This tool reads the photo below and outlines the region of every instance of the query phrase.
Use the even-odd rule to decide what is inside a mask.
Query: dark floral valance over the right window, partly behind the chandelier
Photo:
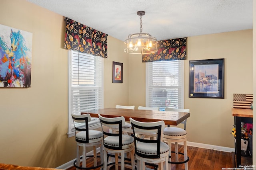
[[[158,41],[158,51],[142,55],[142,62],[186,60],[186,41],[186,37]]]

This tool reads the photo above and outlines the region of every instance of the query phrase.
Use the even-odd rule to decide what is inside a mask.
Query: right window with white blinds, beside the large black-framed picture
[[[146,63],[146,106],[184,107],[184,61]]]

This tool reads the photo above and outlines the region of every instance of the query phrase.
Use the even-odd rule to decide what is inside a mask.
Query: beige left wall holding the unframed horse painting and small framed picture
[[[55,168],[76,157],[68,138],[68,51],[64,17],[26,0],[0,0],[0,24],[33,34],[31,88],[2,88],[0,162]],[[104,107],[128,104],[128,54],[108,36]],[[123,63],[122,84],[112,83],[112,61]],[[11,125],[12,123],[12,125]]]

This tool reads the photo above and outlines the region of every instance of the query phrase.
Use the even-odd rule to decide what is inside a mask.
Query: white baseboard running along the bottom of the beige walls
[[[183,143],[179,143],[179,145],[183,145]],[[204,144],[204,143],[195,143],[195,142],[187,142],[187,145],[190,147],[197,147],[197,148],[203,148],[203,149],[210,149],[210,150],[219,150],[222,152],[235,152],[234,148],[229,148],[229,147],[221,147],[221,146],[216,146],[216,145],[209,145],[209,144]],[[100,152],[100,148],[97,148],[97,153]],[[88,152],[87,155],[93,155],[93,150]],[[74,161],[76,158],[73,160],[70,160],[69,162],[58,166],[56,169],[68,169],[73,166]]]

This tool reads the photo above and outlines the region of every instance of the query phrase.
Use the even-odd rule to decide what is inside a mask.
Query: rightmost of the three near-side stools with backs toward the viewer
[[[134,133],[135,156],[140,170],[145,170],[145,162],[158,164],[158,168],[168,167],[169,146],[162,142],[164,121],[140,122],[130,118]],[[155,139],[146,139],[144,134],[154,135]],[[164,166],[162,165],[165,162]]]

